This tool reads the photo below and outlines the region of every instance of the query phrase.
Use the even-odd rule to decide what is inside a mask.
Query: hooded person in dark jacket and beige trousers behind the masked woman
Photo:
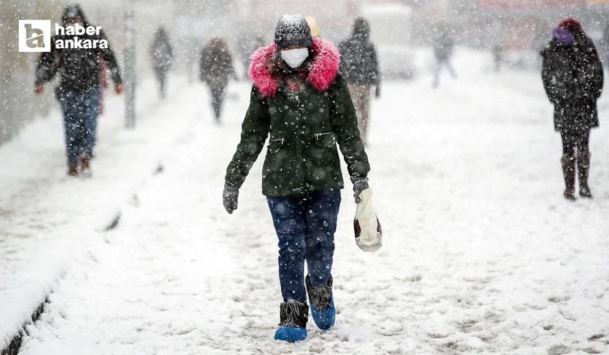
[[[370,92],[376,86],[375,96],[381,96],[381,74],[376,49],[370,39],[370,26],[364,18],[356,18],[351,37],[339,44],[340,73],[349,85],[351,99],[357,113],[359,132],[368,144],[370,128]]]

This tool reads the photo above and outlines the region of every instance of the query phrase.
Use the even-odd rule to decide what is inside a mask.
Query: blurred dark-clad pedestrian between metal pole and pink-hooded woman
[[[203,47],[199,77],[209,86],[214,116],[216,122],[220,122],[228,79],[231,77],[236,79],[233,57],[224,38],[212,38]]]

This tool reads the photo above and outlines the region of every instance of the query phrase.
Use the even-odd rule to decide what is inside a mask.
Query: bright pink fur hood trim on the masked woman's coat
[[[340,65],[340,54],[330,41],[313,38],[315,58],[309,69],[307,81],[319,91],[326,91],[334,82]],[[250,63],[250,78],[263,96],[275,96],[278,80],[271,74],[268,60],[275,52],[275,43],[261,47],[252,54]]]

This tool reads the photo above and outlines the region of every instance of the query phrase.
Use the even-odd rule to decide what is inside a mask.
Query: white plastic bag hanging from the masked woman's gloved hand
[[[357,204],[353,220],[355,243],[361,250],[374,253],[382,247],[382,230],[372,208],[372,189],[365,189],[359,197],[362,200]]]

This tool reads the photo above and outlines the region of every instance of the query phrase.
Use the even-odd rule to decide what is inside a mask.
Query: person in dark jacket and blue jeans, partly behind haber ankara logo
[[[89,27],[80,5],[68,5],[63,11],[63,27]],[[122,80],[114,53],[107,48],[55,48],[55,40],[73,40],[73,35],[60,34],[51,38],[51,51],[40,56],[35,74],[37,94],[43,93],[45,82],[55,74],[60,76],[56,95],[63,109],[68,175],[91,175],[91,159],[96,144],[97,116],[100,105],[100,61],[105,63],[114,81],[116,93],[122,93]],[[107,40],[104,33],[80,35],[79,40]],[[79,164],[80,163],[80,164]]]

